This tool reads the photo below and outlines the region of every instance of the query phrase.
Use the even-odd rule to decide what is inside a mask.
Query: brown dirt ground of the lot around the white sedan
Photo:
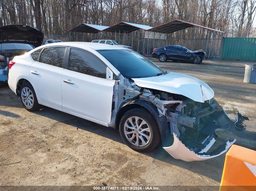
[[[157,62],[167,71],[205,81],[232,119],[248,116],[238,135],[220,140],[256,150],[256,84],[243,82],[242,61],[207,60],[202,65]],[[28,112],[8,88],[0,88],[0,186],[5,185],[219,185],[225,154],[207,161],[172,158],[159,145],[138,153],[118,130],[51,109]]]

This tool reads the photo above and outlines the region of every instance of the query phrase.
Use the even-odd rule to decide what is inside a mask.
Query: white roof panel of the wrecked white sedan
[[[127,50],[127,48],[123,48],[121,46],[113,46],[109,44],[101,44],[101,43],[86,43],[86,42],[62,42],[62,43],[51,43],[47,45],[43,45],[44,47],[48,46],[73,46],[81,49],[91,48],[94,50]]]

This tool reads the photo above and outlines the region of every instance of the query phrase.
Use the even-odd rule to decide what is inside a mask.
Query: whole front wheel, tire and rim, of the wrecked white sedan
[[[127,111],[121,118],[119,130],[125,144],[135,151],[151,151],[160,142],[158,125],[144,108]]]

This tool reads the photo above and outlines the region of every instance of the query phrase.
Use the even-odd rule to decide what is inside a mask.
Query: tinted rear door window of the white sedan
[[[62,67],[63,58],[65,54],[65,47],[52,47],[52,48],[45,48],[40,55],[39,62]]]

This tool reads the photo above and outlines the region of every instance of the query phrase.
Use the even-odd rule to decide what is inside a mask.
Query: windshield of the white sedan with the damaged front
[[[132,50],[98,50],[125,78],[144,78],[165,73],[159,66]]]

